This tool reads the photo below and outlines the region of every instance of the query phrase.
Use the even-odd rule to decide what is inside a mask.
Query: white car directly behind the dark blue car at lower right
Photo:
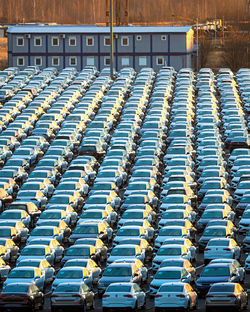
[[[233,238],[212,238],[204,249],[204,261],[220,258],[240,259],[240,247]]]

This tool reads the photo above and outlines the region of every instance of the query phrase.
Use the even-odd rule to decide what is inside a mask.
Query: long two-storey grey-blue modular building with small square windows
[[[162,66],[192,67],[194,32],[191,26],[114,27],[114,66],[135,70]],[[8,29],[9,66],[38,65],[59,70],[109,66],[109,27],[84,25],[16,25]]]

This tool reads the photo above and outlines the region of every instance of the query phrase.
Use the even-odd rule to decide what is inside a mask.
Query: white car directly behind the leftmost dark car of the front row
[[[10,271],[8,277],[4,281],[3,288],[13,283],[34,283],[40,291],[45,287],[45,275],[39,268],[19,267]]]

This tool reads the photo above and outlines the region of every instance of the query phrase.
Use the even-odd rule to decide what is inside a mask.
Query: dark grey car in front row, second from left
[[[51,311],[77,308],[80,311],[94,309],[94,293],[83,282],[62,282],[50,296]]]

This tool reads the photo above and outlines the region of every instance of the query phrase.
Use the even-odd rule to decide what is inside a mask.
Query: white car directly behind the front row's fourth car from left
[[[184,282],[190,283],[191,282],[191,274],[186,271],[184,268],[180,267],[165,267],[160,268],[152,282],[150,283],[149,292],[151,296],[156,295],[158,289],[164,283],[175,283],[175,282]]]

